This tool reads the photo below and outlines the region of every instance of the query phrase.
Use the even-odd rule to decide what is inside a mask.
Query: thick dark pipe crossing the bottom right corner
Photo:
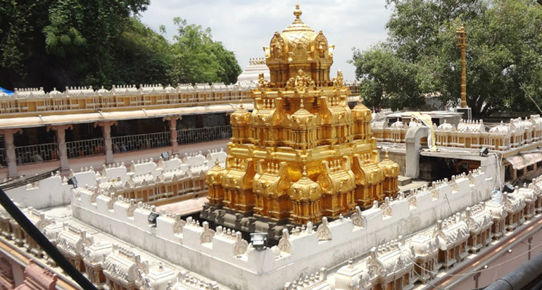
[[[484,290],[519,290],[542,275],[542,253],[515,268],[505,277],[484,288]]]

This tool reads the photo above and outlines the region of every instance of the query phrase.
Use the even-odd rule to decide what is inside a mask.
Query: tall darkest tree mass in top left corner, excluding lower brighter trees
[[[149,0],[7,0],[0,5],[0,85],[111,84],[122,32]]]

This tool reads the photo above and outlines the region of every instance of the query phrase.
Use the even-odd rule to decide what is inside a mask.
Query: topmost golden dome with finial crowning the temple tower
[[[282,33],[275,32],[270,45],[263,48],[272,87],[285,87],[288,80],[297,77],[298,70],[312,78],[317,87],[329,86],[334,46],[329,46],[321,30],[315,32],[305,25],[301,14],[296,4],[294,22]]]

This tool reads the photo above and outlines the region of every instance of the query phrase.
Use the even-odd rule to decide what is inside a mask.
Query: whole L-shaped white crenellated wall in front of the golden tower
[[[72,208],[74,217],[83,222],[232,289],[282,289],[286,281],[339,265],[372,246],[489,199],[494,182],[479,170],[449,182],[434,182],[410,196],[365,210],[355,222],[345,217],[323,222],[317,231],[312,226],[297,228],[284,233],[279,246],[259,251],[225,229],[215,233],[206,223],[171,214],[161,213],[156,225],[150,225],[152,208],[87,189],[73,191]]]

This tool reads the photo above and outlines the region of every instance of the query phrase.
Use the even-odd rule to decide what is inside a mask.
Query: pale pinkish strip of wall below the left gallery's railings
[[[201,153],[205,155],[205,153],[207,153],[208,150],[213,150],[213,149],[220,150],[220,148],[223,148],[224,150],[226,150],[226,146],[228,142],[229,142],[229,139],[224,139],[224,140],[210,141],[210,142],[204,142],[204,143],[182,144],[178,146],[179,148],[178,154],[179,154],[179,157],[182,157],[184,153],[201,151]],[[113,158],[115,158],[115,163],[124,162],[125,165],[129,166],[132,163],[132,160],[145,159],[145,158],[153,158],[154,160],[158,160],[160,158],[160,154],[164,151],[171,152],[171,147],[162,147],[162,148],[156,148],[156,149],[115,153],[113,154]],[[72,168],[74,171],[79,171],[80,168],[87,168],[90,166],[92,166],[95,170],[101,170],[104,163],[106,163],[105,155],[68,159],[68,165],[70,165],[70,168]],[[42,162],[42,163],[19,165],[17,170],[18,170],[19,175],[25,175],[28,177],[28,176],[33,176],[33,175],[43,173],[49,170],[53,170],[55,168],[59,168],[60,166],[61,166],[61,162],[59,160],[55,160],[55,161],[47,161],[47,162]],[[66,174],[66,175],[68,173],[69,172],[63,172],[63,174]],[[7,176],[8,176],[8,168],[7,167],[0,168],[0,180],[6,178]]]

